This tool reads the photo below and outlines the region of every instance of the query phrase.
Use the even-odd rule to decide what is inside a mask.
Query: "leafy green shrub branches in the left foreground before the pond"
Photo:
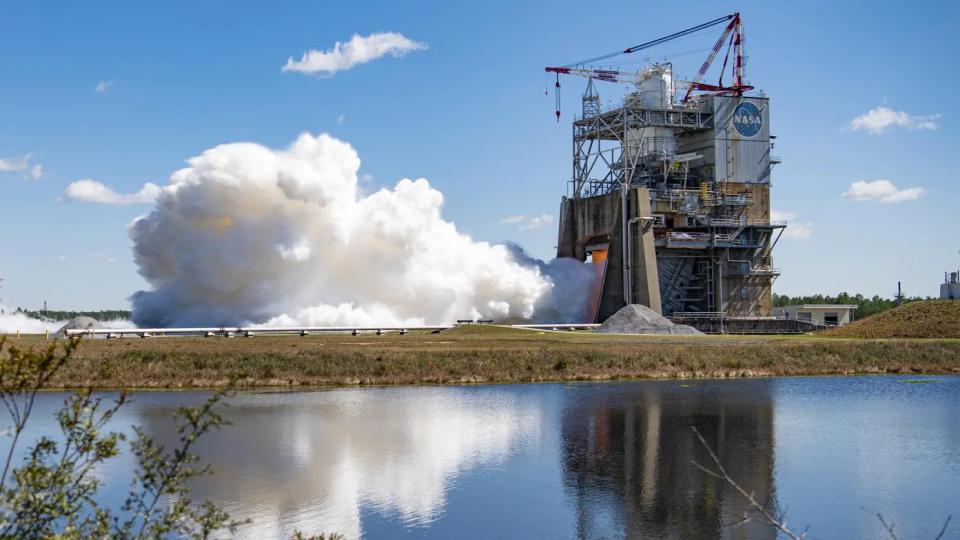
[[[0,338],[0,400],[12,420],[0,473],[0,538],[208,538],[234,531],[235,521],[210,501],[196,502],[186,482],[209,474],[192,453],[197,440],[227,424],[216,410],[223,393],[176,417],[178,444],[164,448],[141,429],[130,441],[136,470],[119,512],[96,500],[98,465],[120,453],[125,437],[105,431],[126,403],[96,397],[90,390],[69,396],[57,413],[61,440],[40,437],[14,463],[37,393],[68,361],[78,339],[42,351],[23,350]]]

